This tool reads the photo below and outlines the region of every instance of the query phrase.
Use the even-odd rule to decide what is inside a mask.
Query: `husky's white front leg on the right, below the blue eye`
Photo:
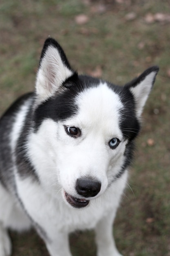
[[[113,221],[115,212],[110,211],[95,228],[97,256],[122,256],[119,254],[113,238]]]

